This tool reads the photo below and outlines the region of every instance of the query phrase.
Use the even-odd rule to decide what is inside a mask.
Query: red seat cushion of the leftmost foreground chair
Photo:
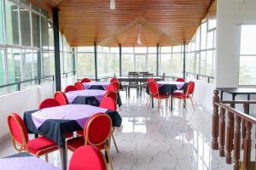
[[[29,152],[37,156],[41,156],[45,153],[59,149],[58,145],[53,140],[47,139],[45,137],[29,140],[26,144],[26,147]]]

